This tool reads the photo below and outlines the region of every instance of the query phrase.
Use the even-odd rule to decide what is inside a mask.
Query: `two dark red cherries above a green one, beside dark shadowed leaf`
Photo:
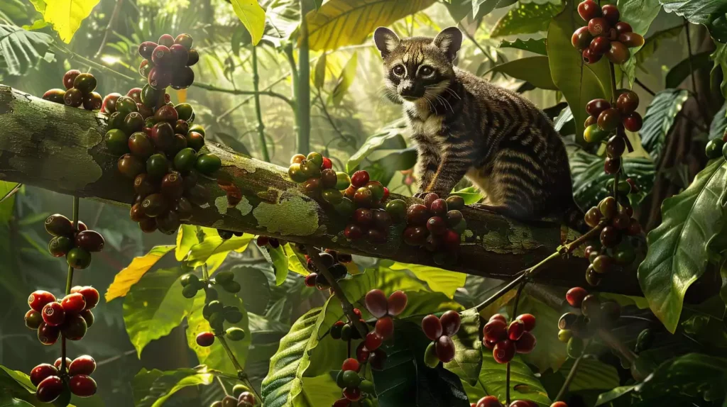
[[[446,311],[441,317],[427,315],[422,318],[422,331],[432,342],[424,353],[424,363],[435,368],[439,362],[447,363],[454,359],[452,338],[459,332],[462,318],[457,311]]]

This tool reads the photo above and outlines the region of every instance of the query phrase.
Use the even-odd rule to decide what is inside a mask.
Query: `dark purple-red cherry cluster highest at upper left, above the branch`
[[[192,48],[193,38],[180,34],[177,38],[164,34],[156,42],[145,41],[139,46],[144,58],[139,73],[154,89],[187,89],[194,82],[191,66],[199,61],[199,54]]]

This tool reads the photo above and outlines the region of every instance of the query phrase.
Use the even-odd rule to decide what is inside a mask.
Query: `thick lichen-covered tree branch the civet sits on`
[[[0,179],[39,186],[63,194],[128,206],[132,181],[116,169],[119,157],[103,142],[106,116],[65,107],[0,85]],[[208,142],[205,149],[222,159],[217,178],[239,189],[241,202],[228,207],[225,191],[214,179],[201,177],[209,191],[188,223],[230,231],[264,234],[290,242],[388,258],[401,263],[438,266],[433,255],[403,244],[402,224],[390,229],[386,244],[349,242],[343,236],[348,219],[328,205],[302,193],[286,169],[254,160]],[[225,186],[229,188],[229,186]],[[412,197],[391,195],[408,203]],[[465,242],[451,271],[510,280],[552,255],[561,245],[561,226],[526,224],[497,213],[465,207]],[[569,232],[569,239],[577,235]],[[582,286],[588,261],[580,255],[550,259],[532,275],[535,282],[562,287]],[[635,270],[619,279],[605,279],[604,292],[640,295]]]

